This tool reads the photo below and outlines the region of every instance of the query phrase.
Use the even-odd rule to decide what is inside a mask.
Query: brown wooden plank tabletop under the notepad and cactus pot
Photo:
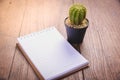
[[[120,0],[0,0],[0,80],[39,80],[16,38],[50,26],[67,38],[64,19],[77,2],[90,25],[76,48],[90,64],[62,80],[120,80]]]

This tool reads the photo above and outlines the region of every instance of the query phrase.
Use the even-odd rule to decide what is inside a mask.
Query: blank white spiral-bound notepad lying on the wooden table
[[[55,27],[17,38],[18,47],[40,79],[55,80],[88,65]]]

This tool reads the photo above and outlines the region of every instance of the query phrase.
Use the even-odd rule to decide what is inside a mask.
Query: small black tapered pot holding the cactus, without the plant
[[[88,28],[89,25],[89,21],[88,19],[86,19],[88,21],[88,24],[85,28],[73,28],[70,27],[69,25],[66,24],[66,20],[68,19],[65,18],[64,24],[66,27],[66,32],[67,32],[67,40],[68,42],[70,42],[71,44],[80,44],[83,42],[84,36],[85,36],[85,32],[86,29]]]

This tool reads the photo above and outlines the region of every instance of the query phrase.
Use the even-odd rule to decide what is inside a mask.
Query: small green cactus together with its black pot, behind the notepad
[[[70,43],[82,43],[89,21],[86,18],[86,8],[82,4],[73,4],[69,8],[69,17],[64,24],[67,32],[67,40]]]

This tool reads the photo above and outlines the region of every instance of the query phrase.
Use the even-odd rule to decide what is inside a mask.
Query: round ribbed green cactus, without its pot
[[[69,19],[73,25],[81,25],[86,18],[86,8],[81,4],[73,4],[69,9]]]

